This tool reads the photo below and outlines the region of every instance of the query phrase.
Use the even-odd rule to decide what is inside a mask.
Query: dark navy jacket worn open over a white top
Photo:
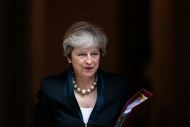
[[[88,127],[113,127],[128,100],[126,77],[97,72],[97,100]],[[82,113],[74,96],[72,69],[45,78],[38,93],[37,127],[84,127]]]

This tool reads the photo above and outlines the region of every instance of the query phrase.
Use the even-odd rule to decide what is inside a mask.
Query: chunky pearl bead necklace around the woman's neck
[[[75,79],[74,79],[74,76],[72,77],[72,80],[73,80],[73,84],[74,84],[74,89],[75,89],[79,94],[81,94],[82,96],[91,93],[91,92],[95,89],[95,87],[96,87],[96,85],[97,85],[97,76],[96,76],[94,82],[92,83],[92,85],[90,86],[90,88],[88,88],[88,89],[81,89],[80,87],[78,87],[78,85],[76,84],[76,81],[75,81]]]

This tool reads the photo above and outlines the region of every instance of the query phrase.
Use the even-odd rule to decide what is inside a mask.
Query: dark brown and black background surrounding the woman
[[[79,20],[108,37],[101,67],[154,92],[150,127],[190,126],[189,0],[1,0],[0,127],[33,127],[40,80],[62,72],[66,28]]]

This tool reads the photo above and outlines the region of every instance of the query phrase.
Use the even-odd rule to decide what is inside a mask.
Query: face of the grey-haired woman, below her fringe
[[[99,48],[74,48],[71,53],[71,64],[76,76],[94,76],[99,67],[99,61]]]

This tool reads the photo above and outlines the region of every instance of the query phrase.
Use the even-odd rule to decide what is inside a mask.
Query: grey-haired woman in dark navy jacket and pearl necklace
[[[65,33],[70,67],[45,78],[38,94],[37,127],[113,127],[128,99],[126,78],[99,69],[106,54],[103,30],[80,21]]]

